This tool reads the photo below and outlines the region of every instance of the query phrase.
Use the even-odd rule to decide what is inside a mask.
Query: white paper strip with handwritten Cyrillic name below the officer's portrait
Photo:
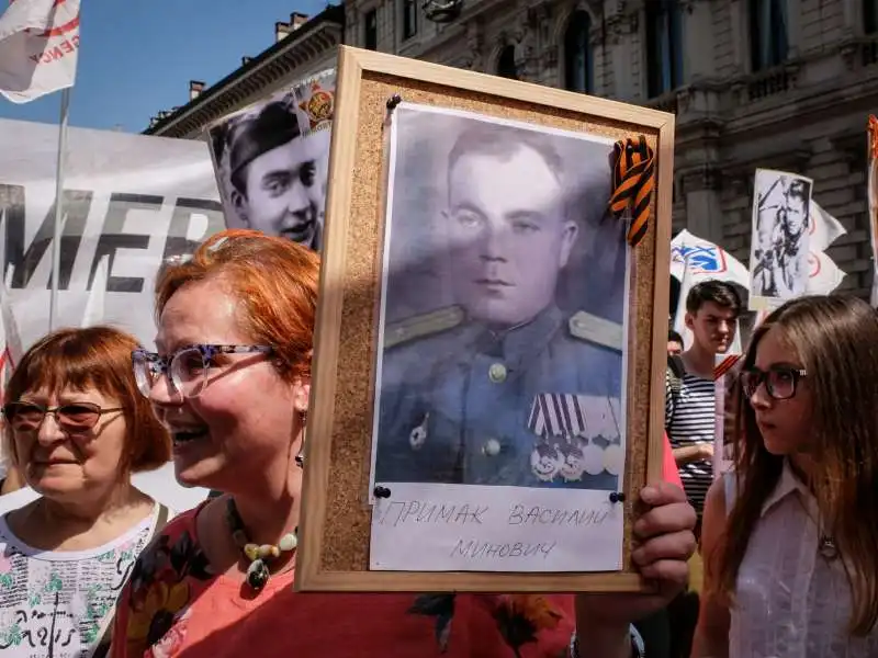
[[[372,508],[370,568],[621,569],[624,506],[609,491],[389,483]]]

